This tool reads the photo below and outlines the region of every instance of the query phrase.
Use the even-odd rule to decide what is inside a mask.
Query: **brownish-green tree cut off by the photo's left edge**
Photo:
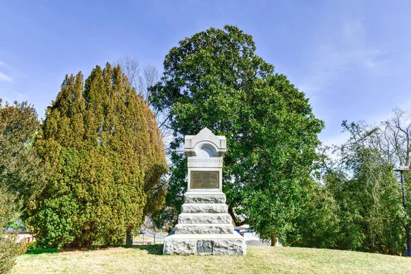
[[[33,147],[40,129],[36,110],[27,102],[1,105],[0,101],[0,185],[16,195],[16,202],[27,204],[41,187],[45,176]]]

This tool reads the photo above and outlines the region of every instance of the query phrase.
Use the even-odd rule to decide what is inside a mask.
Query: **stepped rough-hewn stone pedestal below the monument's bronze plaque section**
[[[214,203],[219,202],[219,203]],[[164,240],[163,254],[245,255],[245,239],[234,231],[223,192],[186,192],[175,234]]]

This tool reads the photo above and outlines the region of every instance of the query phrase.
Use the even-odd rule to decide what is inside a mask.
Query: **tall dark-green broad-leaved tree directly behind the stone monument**
[[[271,238],[298,207],[323,123],[303,92],[274,75],[255,51],[250,35],[228,25],[185,38],[166,55],[151,102],[169,114],[173,128],[167,203],[175,214],[187,184],[184,136],[208,127],[227,138],[223,191],[229,213],[240,224],[237,210]]]

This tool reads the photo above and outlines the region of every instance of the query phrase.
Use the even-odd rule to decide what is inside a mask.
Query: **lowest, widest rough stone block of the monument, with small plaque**
[[[245,239],[232,234],[173,234],[164,240],[164,255],[246,255]]]

